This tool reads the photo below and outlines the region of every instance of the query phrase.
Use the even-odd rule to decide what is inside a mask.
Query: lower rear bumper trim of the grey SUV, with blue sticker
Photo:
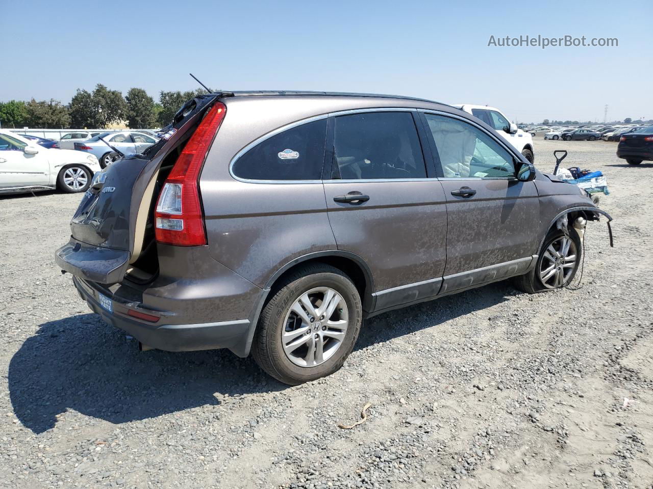
[[[106,323],[122,329],[151,348],[165,351],[229,348],[241,357],[249,353],[249,348],[247,351],[242,348],[250,331],[249,319],[217,323],[165,324],[167,317],[172,316],[172,313],[153,311],[138,307],[138,304],[120,302],[116,299],[113,299],[114,311],[108,312],[100,306],[100,291],[78,277],[73,277],[72,280],[80,297],[88,303],[93,312],[99,314]],[[161,316],[161,319],[157,323],[140,321],[127,316],[129,309]]]

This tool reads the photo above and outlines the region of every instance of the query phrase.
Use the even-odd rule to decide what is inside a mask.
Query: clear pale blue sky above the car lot
[[[653,1],[3,1],[0,100],[95,83],[362,91],[488,104],[511,119],[653,117]],[[18,19],[18,22],[15,20]],[[498,37],[618,47],[488,47]],[[5,59],[6,61],[6,59]]]

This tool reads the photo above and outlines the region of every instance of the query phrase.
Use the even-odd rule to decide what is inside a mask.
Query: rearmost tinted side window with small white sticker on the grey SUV
[[[274,134],[240,156],[232,168],[248,180],[321,180],[327,119]]]

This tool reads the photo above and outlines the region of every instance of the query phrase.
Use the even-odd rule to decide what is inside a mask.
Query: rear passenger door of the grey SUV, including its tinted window
[[[338,249],[372,269],[376,310],[436,295],[444,271],[445,198],[427,175],[416,117],[387,109],[330,117],[328,218]]]

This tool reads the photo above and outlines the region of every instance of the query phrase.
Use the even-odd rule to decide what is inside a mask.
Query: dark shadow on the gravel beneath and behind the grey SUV
[[[498,284],[375,316],[357,349],[500,303],[509,293]],[[140,353],[135,340],[96,314],[80,314],[43,323],[25,340],[10,361],[8,387],[16,417],[39,434],[68,409],[119,424],[287,385],[227,350]]]

